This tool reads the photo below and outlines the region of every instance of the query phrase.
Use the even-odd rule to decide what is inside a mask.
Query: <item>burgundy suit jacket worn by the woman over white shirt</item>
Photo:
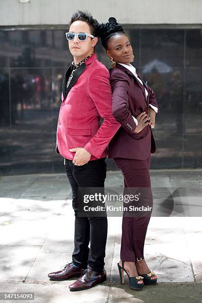
[[[137,117],[139,113],[147,112],[149,103],[158,108],[155,94],[150,87],[146,86],[138,73],[144,85],[121,64],[116,63],[116,67],[111,68],[109,72],[113,93],[113,116],[121,127],[109,143],[108,157],[147,159],[151,152],[155,152],[152,129],[148,125],[140,133],[135,134],[136,123],[132,116]],[[145,88],[148,90],[148,98],[146,98]]]

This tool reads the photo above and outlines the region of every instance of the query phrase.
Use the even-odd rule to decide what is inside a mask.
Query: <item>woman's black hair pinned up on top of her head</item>
[[[116,21],[114,17],[110,17],[108,22],[102,23],[99,26],[98,36],[101,38],[101,44],[107,50],[108,40],[115,35],[125,34],[123,27]]]

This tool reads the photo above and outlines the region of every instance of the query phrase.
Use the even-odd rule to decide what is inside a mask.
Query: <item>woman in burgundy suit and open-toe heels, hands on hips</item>
[[[133,49],[121,24],[115,18],[111,17],[109,22],[101,24],[100,37],[112,62],[109,72],[113,92],[113,116],[121,124],[109,144],[109,158],[113,158],[122,170],[124,195],[137,193],[135,189],[144,188],[142,202],[145,206],[152,206],[149,168],[151,152],[155,152],[151,130],[158,111],[155,94],[130,64],[134,58]],[[150,216],[151,212],[146,216],[131,216],[127,213],[123,215],[121,260],[118,269],[121,284],[124,283],[125,271],[133,289],[155,285],[157,280],[144,259]]]

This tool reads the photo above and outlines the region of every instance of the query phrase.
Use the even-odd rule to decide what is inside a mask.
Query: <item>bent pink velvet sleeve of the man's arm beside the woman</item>
[[[109,72],[106,68],[98,67],[91,73],[88,81],[88,92],[95,103],[99,115],[103,118],[103,123],[84,148],[100,158],[109,141],[120,127],[120,124],[112,115],[112,93],[109,83]]]

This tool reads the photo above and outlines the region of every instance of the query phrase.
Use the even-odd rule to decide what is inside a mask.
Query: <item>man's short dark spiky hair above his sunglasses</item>
[[[91,34],[95,37],[98,37],[99,22],[95,18],[93,18],[91,13],[89,13],[88,11],[81,10],[76,11],[71,17],[70,25],[74,21],[78,20],[85,21],[86,23],[88,23],[91,28]]]

